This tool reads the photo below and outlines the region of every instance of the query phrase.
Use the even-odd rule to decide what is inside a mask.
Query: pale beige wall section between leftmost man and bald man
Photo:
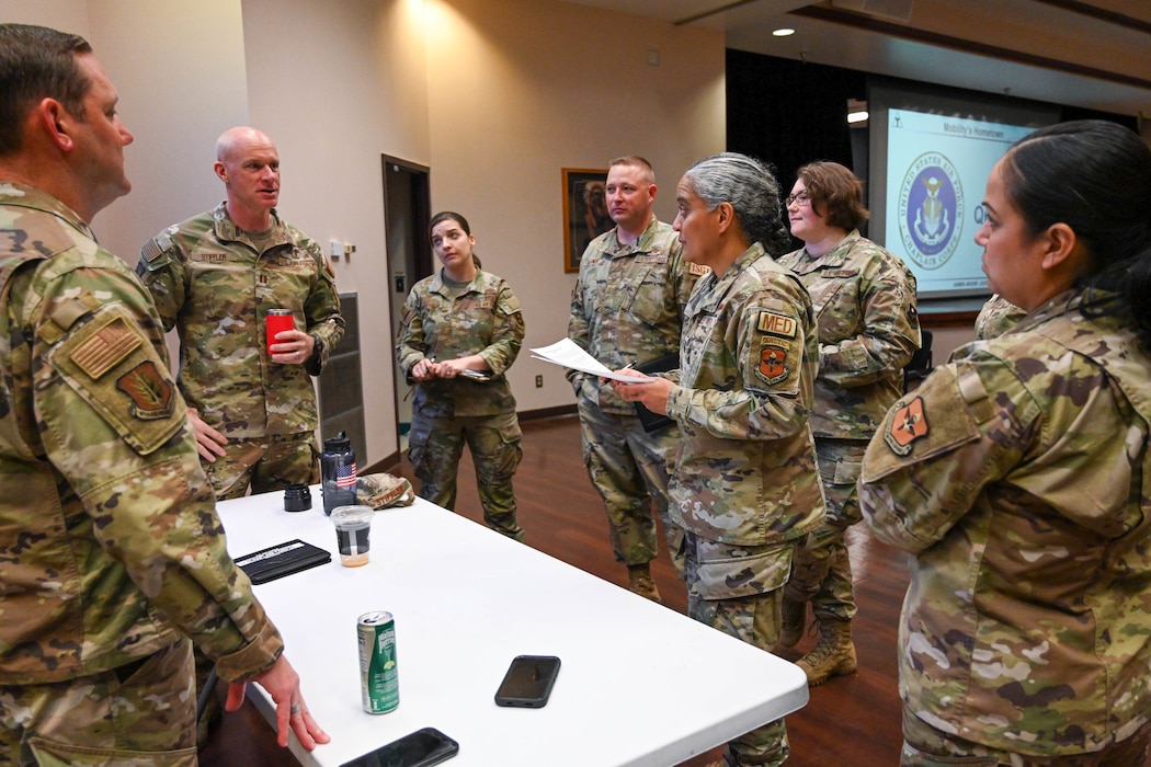
[[[212,172],[216,137],[246,120],[241,0],[5,0],[0,21],[84,36],[120,93],[136,137],[124,151],[132,192],[93,223],[100,243],[135,263],[161,228],[223,199]]]

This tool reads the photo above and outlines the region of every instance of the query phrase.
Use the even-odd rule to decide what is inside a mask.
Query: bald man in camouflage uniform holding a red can
[[[315,390],[344,332],[320,246],[276,215],[280,155],[253,128],[216,143],[228,199],[148,240],[136,267],[180,333],[180,391],[216,497],[319,482]],[[266,338],[270,309],[296,329]],[[268,344],[272,344],[272,354]]]

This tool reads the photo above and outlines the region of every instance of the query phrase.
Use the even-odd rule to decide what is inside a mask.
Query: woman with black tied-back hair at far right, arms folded
[[[860,501],[913,554],[902,765],[1143,765],[1151,734],[1151,148],[1042,129],[988,178],[1027,314],[887,414]]]

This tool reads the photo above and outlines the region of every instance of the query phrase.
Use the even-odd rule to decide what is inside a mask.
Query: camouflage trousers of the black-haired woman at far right
[[[1064,757],[1012,753],[937,730],[904,710],[904,749],[900,767],[1143,767],[1146,764],[1151,722],[1135,735],[1102,751]]]

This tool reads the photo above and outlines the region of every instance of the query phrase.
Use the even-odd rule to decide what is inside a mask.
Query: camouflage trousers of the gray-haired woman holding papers
[[[733,546],[688,531],[684,554],[687,615],[761,650],[775,650],[783,630],[783,586],[792,546]],[[731,577],[735,573],[741,577]],[[790,754],[787,727],[777,719],[730,741],[724,765],[776,766]]]

